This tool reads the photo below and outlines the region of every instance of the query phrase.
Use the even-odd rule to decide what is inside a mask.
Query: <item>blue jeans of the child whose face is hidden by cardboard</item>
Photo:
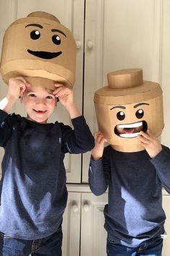
[[[139,247],[126,247],[107,237],[107,256],[161,256],[163,239],[156,237],[140,244]]]

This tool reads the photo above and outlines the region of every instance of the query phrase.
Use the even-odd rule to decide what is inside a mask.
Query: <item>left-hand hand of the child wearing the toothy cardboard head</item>
[[[94,133],[94,140],[95,140],[95,146],[94,149],[91,151],[91,156],[94,159],[94,161],[99,160],[104,151],[104,142],[107,142],[107,139],[104,138],[103,134],[98,131],[97,133]]]

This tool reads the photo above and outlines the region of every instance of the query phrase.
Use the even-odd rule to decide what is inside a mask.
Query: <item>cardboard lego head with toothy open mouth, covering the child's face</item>
[[[161,87],[143,81],[142,69],[111,72],[107,80],[94,94],[99,131],[117,151],[141,151],[138,133],[149,129],[158,137],[164,128]]]

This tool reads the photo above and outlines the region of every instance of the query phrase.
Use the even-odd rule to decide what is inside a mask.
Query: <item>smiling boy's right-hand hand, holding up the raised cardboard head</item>
[[[57,89],[53,94],[60,100],[61,104],[65,107],[69,107],[73,104],[73,90],[69,87],[65,87],[63,84],[54,84]]]

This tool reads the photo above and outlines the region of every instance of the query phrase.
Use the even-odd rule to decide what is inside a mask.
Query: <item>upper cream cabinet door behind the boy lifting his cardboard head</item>
[[[30,12],[49,12],[66,25],[73,32],[77,42],[77,65],[76,84],[73,87],[75,101],[82,110],[82,88],[83,88],[83,55],[84,55],[84,0],[0,0],[0,40],[4,36],[4,31],[15,19],[27,17]],[[1,81],[0,95],[6,94],[6,84]],[[17,102],[12,109],[21,115],[25,115],[24,108]],[[63,109],[60,103],[49,119],[49,122],[58,120],[71,125],[68,112]],[[2,154],[2,153],[1,153]],[[81,154],[66,155],[65,167],[68,182],[81,182]]]

